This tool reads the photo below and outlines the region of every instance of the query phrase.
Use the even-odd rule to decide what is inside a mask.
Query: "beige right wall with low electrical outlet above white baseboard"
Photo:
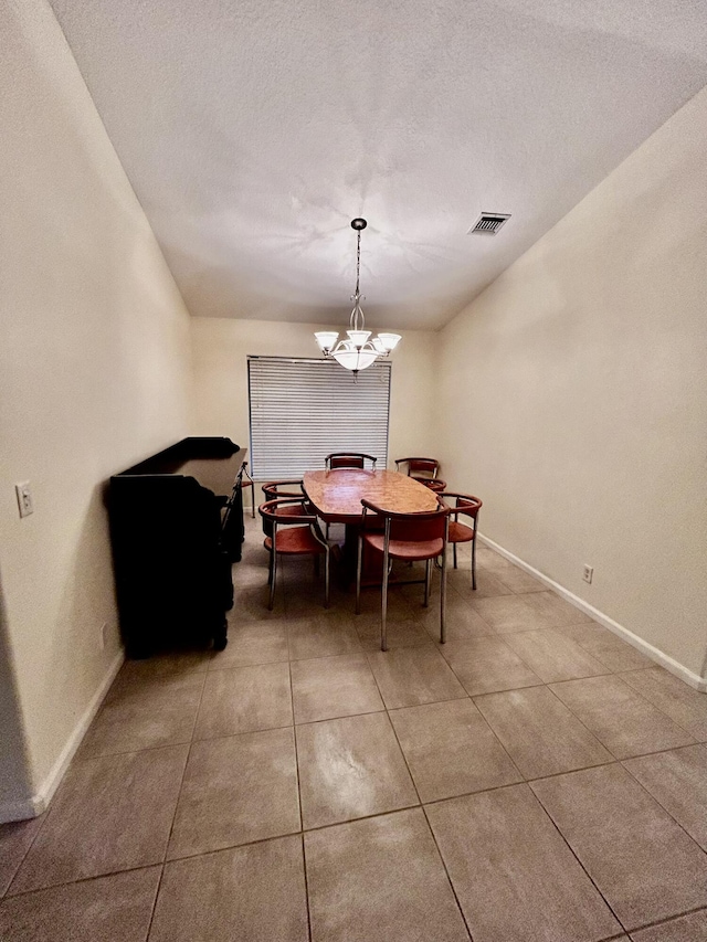
[[[706,161],[707,89],[447,326],[437,390],[444,477],[485,501],[483,532],[693,682],[707,655]]]

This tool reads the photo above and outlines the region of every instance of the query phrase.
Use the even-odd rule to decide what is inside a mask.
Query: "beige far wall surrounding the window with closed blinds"
[[[314,324],[193,318],[191,332],[196,375],[198,435],[229,435],[249,444],[247,356],[318,357]],[[331,329],[336,330],[337,327]],[[340,327],[338,328],[341,329]],[[388,464],[432,446],[435,409],[436,335],[400,331],[391,353],[390,443]],[[344,375],[344,370],[341,371]]]

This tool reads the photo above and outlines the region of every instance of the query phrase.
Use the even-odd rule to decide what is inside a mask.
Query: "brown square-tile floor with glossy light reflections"
[[[226,649],[126,663],[0,827],[0,939],[707,940],[707,696],[483,547],[444,646],[309,561],[268,613],[250,518],[234,581]]]

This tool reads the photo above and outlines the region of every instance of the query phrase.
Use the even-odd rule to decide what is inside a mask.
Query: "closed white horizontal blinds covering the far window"
[[[391,363],[352,373],[331,360],[249,357],[251,474],[302,477],[331,452],[388,462]]]

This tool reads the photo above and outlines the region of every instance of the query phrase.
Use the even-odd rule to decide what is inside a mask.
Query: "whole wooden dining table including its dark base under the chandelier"
[[[439,502],[434,491],[408,475],[366,468],[305,472],[303,490],[326,523],[345,525],[340,553],[345,581],[350,581],[356,573],[358,534],[363,522],[361,499],[397,514],[434,510]],[[381,578],[382,553],[365,554],[361,583],[377,585]]]

